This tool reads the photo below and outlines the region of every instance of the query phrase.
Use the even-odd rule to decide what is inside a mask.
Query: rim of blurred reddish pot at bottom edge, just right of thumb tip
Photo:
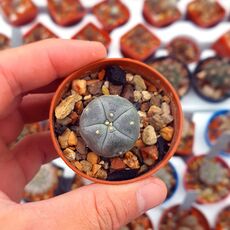
[[[178,209],[179,209],[179,205],[174,205],[170,208],[167,208],[166,210],[164,210],[161,218],[160,218],[160,222],[159,222],[159,229],[161,229],[161,225],[163,223],[163,221],[165,220],[165,218],[167,217],[168,213],[174,213],[174,214],[177,214],[178,212]],[[196,216],[197,219],[199,220],[199,223],[202,225],[202,227],[206,230],[209,230],[210,229],[210,226],[209,226],[209,223],[208,223],[208,220],[207,218],[204,216],[204,214],[202,214],[201,211],[199,211],[198,209],[192,207],[191,208],[191,213],[193,216]]]

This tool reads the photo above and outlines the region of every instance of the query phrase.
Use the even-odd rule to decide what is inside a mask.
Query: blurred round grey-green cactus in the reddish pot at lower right
[[[202,182],[207,185],[216,185],[223,178],[225,169],[213,160],[206,159],[200,167],[199,177]]]

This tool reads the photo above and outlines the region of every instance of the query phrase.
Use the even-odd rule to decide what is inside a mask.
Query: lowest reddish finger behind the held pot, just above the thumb
[[[0,175],[4,175],[0,190],[15,201],[22,197],[25,185],[40,166],[57,157],[48,132],[25,137],[8,155],[12,157],[7,163],[0,160]]]

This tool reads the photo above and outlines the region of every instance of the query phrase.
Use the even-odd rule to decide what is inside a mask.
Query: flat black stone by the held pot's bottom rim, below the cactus
[[[110,173],[107,177],[107,180],[110,181],[120,181],[120,180],[129,180],[137,177],[138,170],[137,169],[129,169],[129,170],[118,170]]]

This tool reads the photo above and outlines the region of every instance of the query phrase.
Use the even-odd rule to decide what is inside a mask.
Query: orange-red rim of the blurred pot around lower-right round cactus
[[[189,185],[188,185],[188,183],[186,181],[187,174],[188,174],[188,165],[192,164],[197,159],[203,158],[203,157],[205,157],[205,154],[202,154],[202,155],[199,155],[199,156],[192,156],[191,158],[189,158],[189,160],[187,162],[187,168],[185,170],[185,174],[184,174],[184,178],[183,178],[183,184],[184,184],[185,190],[189,191],[189,190],[193,190],[194,189],[194,188],[189,187]],[[217,162],[219,162],[224,168],[226,168],[228,170],[228,172],[229,172],[229,175],[230,175],[230,168],[229,168],[228,164],[222,158],[220,158],[220,157],[215,157],[215,160]],[[204,205],[205,204],[216,204],[216,203],[221,202],[224,199],[226,199],[229,195],[230,195],[230,193],[228,193],[225,196],[221,197],[219,200],[212,201],[212,202],[208,202],[207,200],[204,200],[204,199],[200,198],[199,195],[198,195],[196,202],[198,204],[202,204],[202,205],[203,204]]]

